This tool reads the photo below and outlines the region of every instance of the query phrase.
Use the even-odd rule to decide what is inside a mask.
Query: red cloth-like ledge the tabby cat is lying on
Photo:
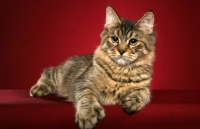
[[[95,129],[198,129],[200,91],[154,90],[153,98],[131,116],[122,107],[104,106],[106,118]],[[27,90],[0,90],[0,128],[74,129],[72,103],[57,96],[32,98]]]

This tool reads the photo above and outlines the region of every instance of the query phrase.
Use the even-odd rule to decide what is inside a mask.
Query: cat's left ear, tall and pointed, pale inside
[[[121,21],[117,15],[117,13],[113,10],[111,6],[106,8],[106,23],[105,28],[110,28],[120,24]]]

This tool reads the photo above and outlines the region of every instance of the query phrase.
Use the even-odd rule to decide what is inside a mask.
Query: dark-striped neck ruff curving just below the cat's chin
[[[97,68],[96,70],[100,71],[95,72],[95,75],[101,76],[104,74],[103,79],[107,79],[106,82],[109,83],[119,83],[120,85],[130,84],[135,88],[141,88],[143,85],[147,86],[151,81],[151,65],[145,64],[145,61],[137,61],[122,67],[112,61],[101,47],[98,47],[95,51],[93,63],[94,67]]]

